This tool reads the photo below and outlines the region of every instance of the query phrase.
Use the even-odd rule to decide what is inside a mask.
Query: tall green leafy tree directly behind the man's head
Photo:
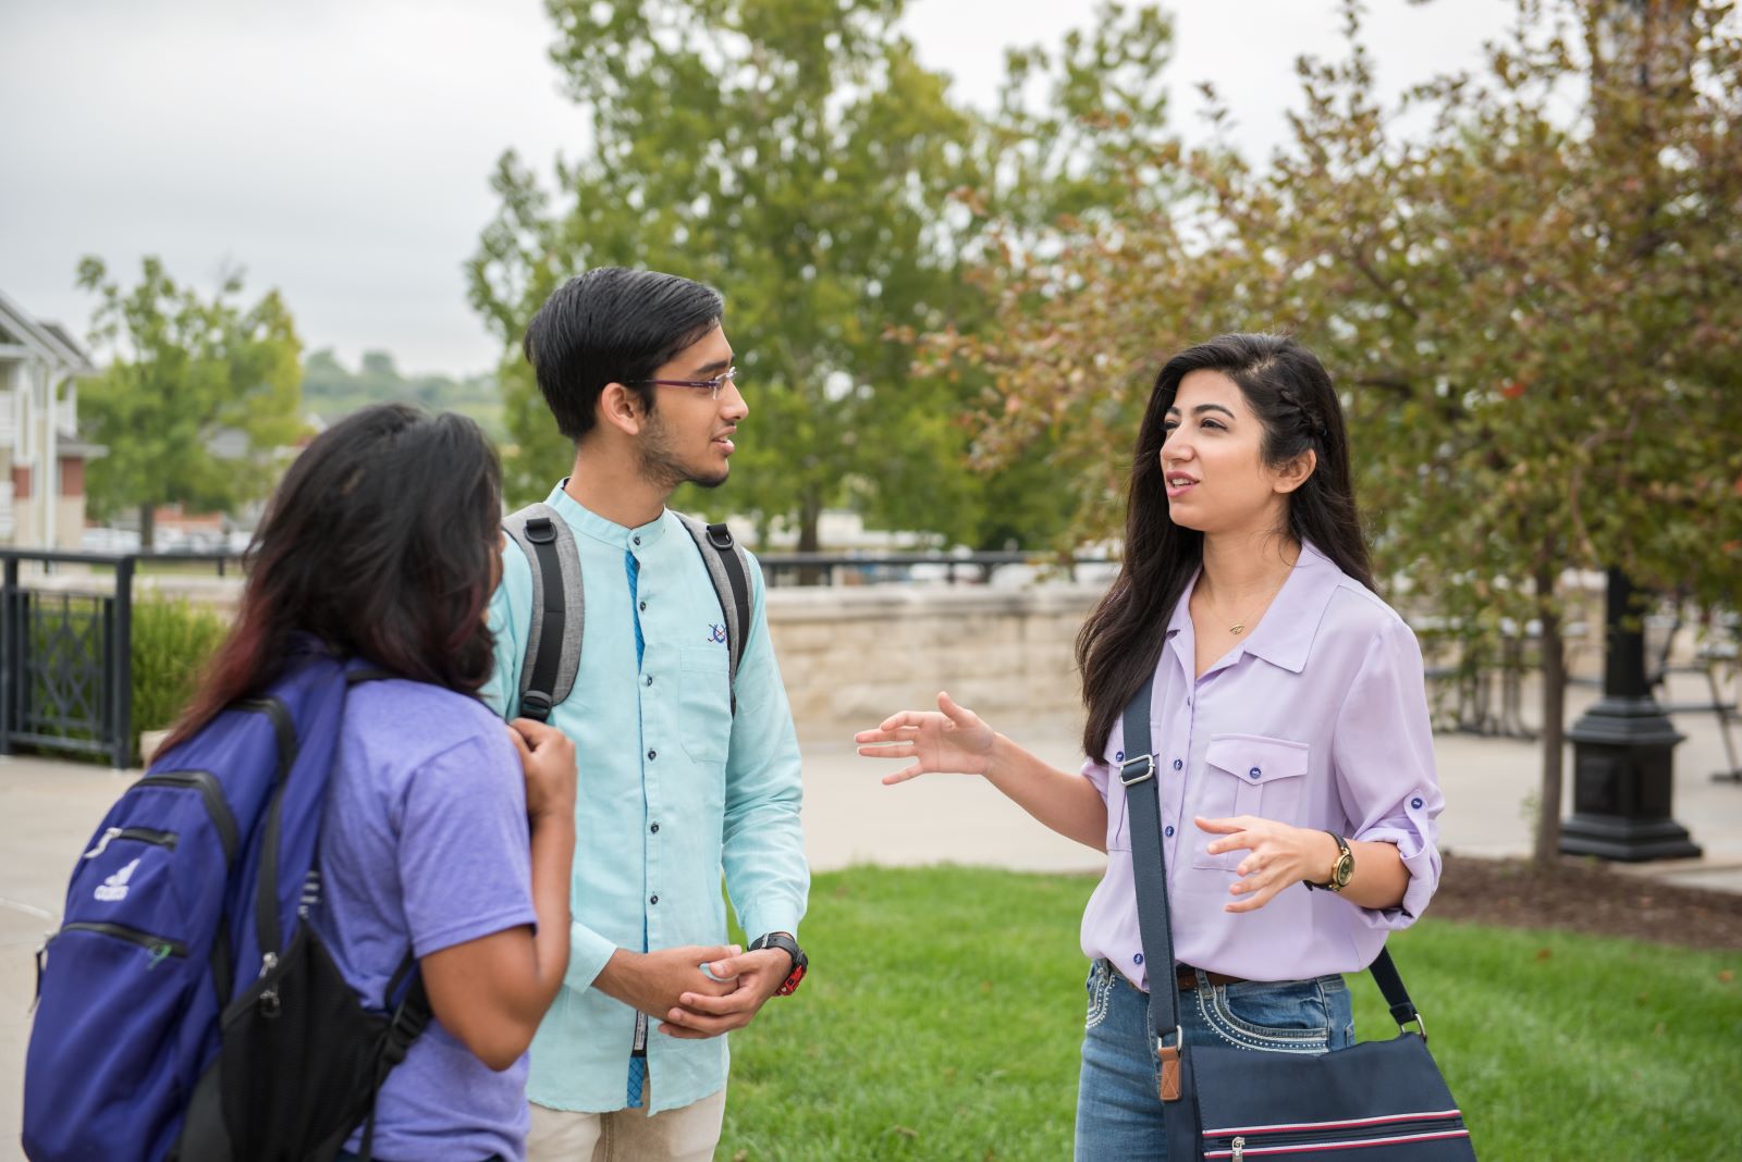
[[[519,445],[510,494],[542,494],[570,457],[517,355],[521,331],[566,278],[625,264],[726,297],[751,417],[730,494],[683,503],[751,511],[763,534],[786,524],[800,548],[817,548],[817,520],[833,504],[953,539],[1003,539],[1063,517],[1021,503],[1030,480],[1000,491],[970,471],[963,398],[974,384],[916,371],[915,336],[984,320],[984,292],[960,261],[993,209],[1026,221],[1036,207],[1070,205],[1066,186],[1082,204],[1094,174],[1080,157],[1077,169],[1057,162],[1056,143],[1033,132],[1073,118],[1005,120],[1000,136],[958,108],[899,33],[902,7],[549,2],[552,59],[587,113],[589,146],[559,164],[556,190],[512,153],[502,158],[502,207],[470,266],[472,303],[505,344],[507,426]],[[1139,73],[1167,35],[1153,14],[1144,21],[1125,23],[1148,37],[1138,47],[1111,33],[1073,42],[1061,85],[1097,89],[1096,52]],[[1019,80],[1043,61],[1019,61]],[[1043,188],[1026,181],[1040,176]],[[958,197],[995,188],[995,205]]]

